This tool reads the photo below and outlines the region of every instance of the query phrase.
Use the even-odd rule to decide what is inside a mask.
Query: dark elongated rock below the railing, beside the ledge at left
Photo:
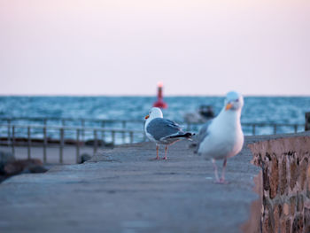
[[[18,159],[4,166],[4,173],[7,176],[17,175],[22,172],[37,173],[38,171],[46,172],[40,159]]]

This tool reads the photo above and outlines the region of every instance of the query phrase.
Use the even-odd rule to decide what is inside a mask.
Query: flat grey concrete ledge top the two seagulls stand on
[[[167,161],[150,160],[154,144],[131,144],[12,177],[0,184],[0,232],[240,232],[259,197],[247,144],[267,138],[246,137],[228,161],[228,185],[213,183],[211,162],[187,142],[171,146]]]

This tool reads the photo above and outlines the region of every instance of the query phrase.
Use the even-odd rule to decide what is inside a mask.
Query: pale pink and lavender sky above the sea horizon
[[[0,95],[310,96],[309,0],[0,0]]]

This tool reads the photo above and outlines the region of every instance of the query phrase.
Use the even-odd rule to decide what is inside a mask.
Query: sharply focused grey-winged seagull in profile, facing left
[[[149,114],[145,116],[145,135],[156,143],[156,158],[159,159],[159,144],[166,144],[165,157],[167,159],[168,145],[187,138],[190,140],[193,134],[185,133],[182,128],[172,120],[163,118],[163,113],[158,107],[152,107]]]

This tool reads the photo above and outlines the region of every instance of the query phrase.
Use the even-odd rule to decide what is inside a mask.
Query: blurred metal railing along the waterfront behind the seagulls
[[[32,122],[39,124],[29,124]],[[56,123],[58,126],[50,125],[50,123]],[[60,163],[63,163],[66,144],[73,144],[76,147],[76,162],[78,162],[81,146],[89,145],[89,142],[93,147],[93,154],[96,154],[98,147],[103,144],[132,144],[145,141],[143,125],[143,120],[0,118],[0,144],[10,146],[13,154],[16,146],[26,145],[27,158],[31,158],[33,146],[42,146],[43,162],[47,161],[47,147],[58,146]],[[203,123],[185,122],[181,125],[197,133]],[[261,134],[262,129],[267,132],[265,134],[297,133],[304,131],[305,127],[303,124],[247,122],[242,125],[244,135]]]

